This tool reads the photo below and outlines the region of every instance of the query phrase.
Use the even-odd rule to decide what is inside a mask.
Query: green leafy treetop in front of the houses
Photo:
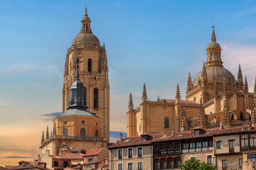
[[[183,170],[214,170],[213,167],[209,162],[201,162],[198,159],[189,159],[183,164],[178,164],[179,169]]]

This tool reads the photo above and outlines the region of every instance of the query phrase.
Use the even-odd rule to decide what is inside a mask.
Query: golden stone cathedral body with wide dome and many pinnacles
[[[242,78],[239,64],[238,77],[223,67],[220,44],[215,30],[206,49],[206,63],[194,81],[188,74],[186,100],[181,100],[177,85],[176,98],[149,101],[146,85],[143,86],[142,103],[134,108],[129,95],[127,111],[127,136],[145,133],[186,131],[190,128],[235,128],[256,123],[255,91],[248,91],[247,78]]]

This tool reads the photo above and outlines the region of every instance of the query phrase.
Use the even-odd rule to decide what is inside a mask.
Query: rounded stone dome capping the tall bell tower
[[[92,33],[82,32],[75,37],[72,45],[92,45],[100,47],[100,41]]]

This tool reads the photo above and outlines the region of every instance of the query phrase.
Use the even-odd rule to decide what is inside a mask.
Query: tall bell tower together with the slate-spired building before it
[[[92,34],[85,8],[82,28],[65,59],[63,115],[42,135],[41,157],[106,147],[110,140],[110,85],[105,44]]]

